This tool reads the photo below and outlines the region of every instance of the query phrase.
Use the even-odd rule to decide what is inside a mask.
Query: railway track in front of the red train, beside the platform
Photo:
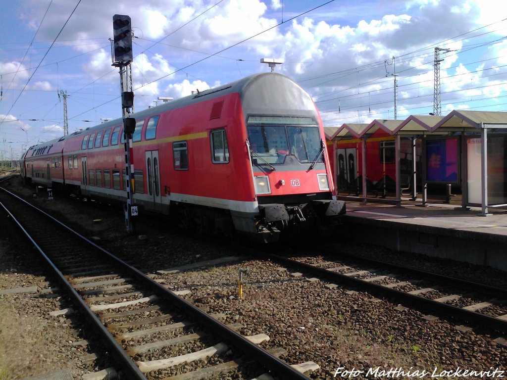
[[[328,252],[332,253],[331,249]],[[505,289],[346,254],[332,261],[298,260],[272,253],[264,253],[264,257],[301,273],[325,278],[330,288],[347,284],[377,297],[429,310],[437,316],[457,318],[507,334]],[[437,319],[433,315],[425,318]]]

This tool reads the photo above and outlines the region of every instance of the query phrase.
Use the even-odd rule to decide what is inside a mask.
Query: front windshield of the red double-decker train
[[[323,162],[317,126],[248,124],[247,130],[253,159],[283,164],[291,155],[300,163]]]

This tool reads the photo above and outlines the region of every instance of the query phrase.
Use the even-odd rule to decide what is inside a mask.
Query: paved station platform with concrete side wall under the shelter
[[[488,265],[507,271],[507,210],[405,199],[402,206],[347,201],[340,236],[355,242]]]

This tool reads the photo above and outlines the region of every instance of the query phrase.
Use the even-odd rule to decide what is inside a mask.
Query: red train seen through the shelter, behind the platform
[[[359,195],[363,186],[363,145],[358,138],[343,138],[328,141],[333,178],[338,194]],[[421,142],[416,140],[417,173],[421,172]],[[366,140],[367,190],[375,196],[395,191],[396,164],[394,138],[378,129]],[[400,184],[403,189],[411,188],[413,173],[412,140],[400,139]],[[420,178],[419,178],[420,179]]]

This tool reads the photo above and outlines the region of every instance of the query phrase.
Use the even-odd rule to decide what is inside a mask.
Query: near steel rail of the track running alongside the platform
[[[489,329],[494,329],[501,331],[503,333],[507,333],[507,321],[495,317],[490,317],[476,312],[470,312],[468,310],[461,309],[457,306],[447,305],[446,303],[439,302],[433,299],[405,293],[401,290],[387,288],[382,285],[356,279],[350,276],[345,276],[337,272],[331,272],[327,269],[314,267],[313,265],[304,262],[299,262],[297,260],[292,260],[279,255],[271,253],[264,253],[263,255],[267,258],[270,258],[273,261],[281,262],[285,265],[292,265],[293,267],[301,268],[307,272],[318,274],[319,276],[322,277],[331,278],[334,281],[339,281],[350,285],[362,287],[375,295],[396,297],[399,299],[401,298],[405,302],[415,303],[418,306],[422,306],[426,309],[432,310],[437,313],[444,313],[454,318],[462,319],[468,322],[478,323],[484,325],[484,327],[487,327]]]

